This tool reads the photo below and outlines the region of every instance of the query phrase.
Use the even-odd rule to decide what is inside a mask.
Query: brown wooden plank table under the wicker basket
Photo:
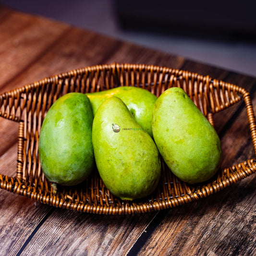
[[[189,70],[246,88],[256,78],[0,8],[0,93],[65,71],[112,62]],[[256,110],[256,109],[255,109]],[[255,158],[244,106],[216,129],[222,165]],[[0,120],[0,173],[15,176],[18,123]],[[159,212],[97,215],[0,191],[0,255],[256,255],[256,175],[204,199]]]

